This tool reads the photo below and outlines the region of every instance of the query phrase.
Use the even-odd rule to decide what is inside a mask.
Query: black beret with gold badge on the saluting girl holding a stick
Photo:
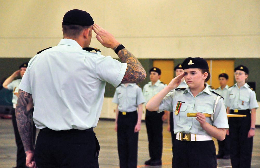
[[[209,69],[209,65],[204,58],[196,57],[196,58],[186,58],[182,63],[182,69],[189,68],[199,68],[199,69]]]

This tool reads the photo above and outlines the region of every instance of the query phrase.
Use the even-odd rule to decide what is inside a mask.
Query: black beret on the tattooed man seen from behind
[[[73,9],[68,11],[62,20],[62,25],[91,26],[94,24],[93,18],[86,11]]]

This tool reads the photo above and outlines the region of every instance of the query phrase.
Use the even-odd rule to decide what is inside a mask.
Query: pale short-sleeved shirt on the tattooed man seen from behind
[[[126,63],[62,39],[29,61],[19,88],[32,94],[37,128],[84,130],[97,125],[106,82],[118,86],[126,68]]]

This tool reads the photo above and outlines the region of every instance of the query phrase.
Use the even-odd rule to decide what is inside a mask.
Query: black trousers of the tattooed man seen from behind
[[[100,146],[88,130],[53,131],[41,129],[35,146],[38,168],[99,168]]]

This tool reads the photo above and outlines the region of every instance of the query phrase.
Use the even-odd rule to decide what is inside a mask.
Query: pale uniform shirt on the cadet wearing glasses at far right
[[[256,100],[256,92],[250,89],[250,86],[247,83],[241,88],[238,88],[236,83],[229,88],[227,106],[230,107],[231,110],[258,109],[259,106]]]

